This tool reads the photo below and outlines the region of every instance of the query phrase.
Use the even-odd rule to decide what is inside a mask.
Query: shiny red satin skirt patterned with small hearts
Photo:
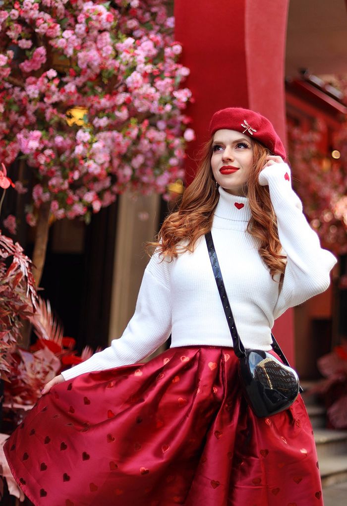
[[[237,360],[170,348],[57,385],[6,443],[15,479],[40,506],[321,506],[301,397],[257,418]]]

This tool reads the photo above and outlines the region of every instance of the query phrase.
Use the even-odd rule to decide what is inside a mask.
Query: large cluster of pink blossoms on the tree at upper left
[[[42,202],[88,220],[128,189],[167,198],[184,176],[193,99],[168,4],[2,2],[0,159],[34,170],[30,225]]]

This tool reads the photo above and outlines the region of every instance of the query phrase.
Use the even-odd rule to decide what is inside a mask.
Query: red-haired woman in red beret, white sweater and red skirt
[[[257,418],[240,392],[204,234],[245,348],[270,350],[274,319],[324,291],[335,258],[302,215],[270,121],[227,108],[209,132],[121,339],[53,379],[7,443],[34,504],[323,504],[301,397]],[[171,348],[140,364],[170,333]]]

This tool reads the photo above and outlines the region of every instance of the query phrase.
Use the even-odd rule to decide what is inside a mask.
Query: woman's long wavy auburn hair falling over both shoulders
[[[178,210],[165,218],[157,240],[147,243],[147,247],[157,248],[159,255],[172,259],[184,251],[193,251],[197,239],[211,230],[213,212],[220,196],[211,168],[212,143],[213,138],[202,146],[197,174],[184,191]],[[285,256],[281,253],[269,187],[258,183],[259,172],[270,151],[253,140],[252,145],[253,164],[244,188],[252,215],[247,231],[259,239],[259,254],[274,277],[284,274]]]

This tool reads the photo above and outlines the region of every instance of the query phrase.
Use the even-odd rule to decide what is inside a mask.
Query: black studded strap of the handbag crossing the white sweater
[[[236,328],[234,316],[233,316],[233,313],[232,313],[232,310],[231,310],[231,307],[230,307],[230,302],[229,302],[229,299],[228,299],[228,296],[227,296],[227,291],[225,289],[225,284],[224,284],[224,281],[223,281],[223,276],[222,276],[221,268],[220,268],[220,265],[219,265],[219,262],[218,262],[218,258],[217,258],[217,254],[216,254],[216,251],[215,251],[215,247],[214,247],[214,244],[213,244],[213,239],[212,239],[211,232],[207,232],[205,234],[205,239],[206,239],[206,244],[207,244],[209,259],[210,259],[212,270],[213,270],[213,274],[214,274],[214,279],[215,279],[215,282],[216,282],[217,287],[218,287],[218,291],[219,291],[219,294],[220,294],[220,297],[221,297],[223,309],[224,309],[225,315],[227,317],[227,322],[228,322],[229,330],[230,330],[231,337],[232,337],[232,340],[233,340],[233,346],[234,346],[235,355],[238,358],[242,358],[242,357],[245,356],[246,352],[245,352],[245,348],[244,348],[244,346],[243,346],[243,344],[241,342],[239,333],[238,333],[237,328]],[[283,363],[285,365],[287,365],[288,367],[290,367],[290,365],[288,363],[288,360],[286,359],[283,351],[281,350],[279,344],[277,343],[277,341],[276,341],[273,333],[271,333],[271,337],[272,337],[272,344],[271,344],[271,346],[272,346],[274,352],[277,353],[277,355],[282,359],[282,361],[283,361]],[[300,387],[300,391],[302,392],[301,387]]]

